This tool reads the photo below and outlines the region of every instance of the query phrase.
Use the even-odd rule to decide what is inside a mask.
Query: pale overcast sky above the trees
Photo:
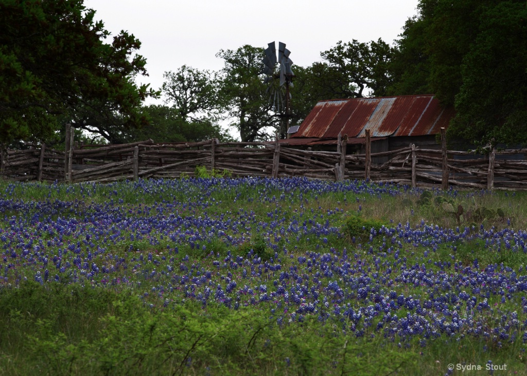
[[[149,77],[138,82],[161,87],[163,73],[186,64],[219,70],[220,50],[245,44],[267,47],[285,42],[295,65],[320,61],[338,41],[392,43],[417,0],[85,0],[95,18],[118,34],[128,31],[142,45]],[[294,70],[294,67],[293,67]]]

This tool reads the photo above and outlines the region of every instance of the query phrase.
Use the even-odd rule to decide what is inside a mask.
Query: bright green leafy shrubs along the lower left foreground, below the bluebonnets
[[[28,296],[31,305],[24,301]],[[188,303],[154,312],[138,298],[104,289],[72,292],[57,284],[48,290],[31,282],[0,291],[0,303],[0,352],[9,354],[0,367],[10,374],[241,375],[258,369],[376,375],[412,366],[416,357],[411,351],[379,352],[375,341],[352,342],[315,318],[306,318],[298,331],[252,309],[209,305],[200,314],[199,306]],[[87,322],[79,319],[85,314],[77,316],[83,310],[90,314]],[[9,359],[11,354],[16,357]]]

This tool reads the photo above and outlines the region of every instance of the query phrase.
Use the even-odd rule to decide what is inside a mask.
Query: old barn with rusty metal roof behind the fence
[[[338,135],[348,135],[347,154],[364,153],[366,130],[372,153],[396,150],[413,143],[440,149],[436,136],[454,116],[433,95],[352,98],[318,102],[288,142],[291,146],[333,150]],[[382,161],[376,161],[382,162]]]

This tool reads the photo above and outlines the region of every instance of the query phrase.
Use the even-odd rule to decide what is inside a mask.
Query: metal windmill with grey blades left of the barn
[[[291,94],[289,88],[293,87],[292,80],[295,74],[291,70],[293,62],[289,58],[291,51],[286,48],[286,44],[278,43],[278,59],[276,58],[275,42],[268,44],[265,49],[264,68],[262,73],[266,74],[264,83],[269,84],[267,93],[269,94],[269,104],[272,103],[272,110],[276,116],[282,118],[280,125],[280,138],[285,138],[287,128],[289,127],[289,117],[291,110]],[[280,64],[280,72],[275,74],[276,64]],[[279,86],[275,84],[275,79],[280,80]]]

